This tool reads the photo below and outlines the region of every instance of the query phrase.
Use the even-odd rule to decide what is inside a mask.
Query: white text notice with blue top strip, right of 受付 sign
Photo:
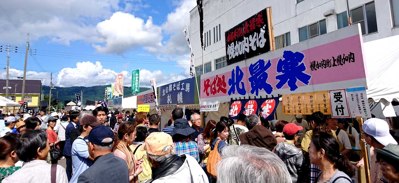
[[[352,118],[371,118],[365,87],[346,89],[346,94]]]

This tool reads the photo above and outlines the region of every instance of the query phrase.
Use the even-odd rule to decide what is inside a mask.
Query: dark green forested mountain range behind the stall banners
[[[75,101],[75,94],[80,94],[83,92],[83,104],[86,103],[86,100],[96,101],[96,100],[104,100],[105,88],[111,87],[111,85],[98,85],[93,87],[56,87],[56,89],[51,90],[51,98],[58,98],[59,102],[64,102],[65,100],[73,100]],[[150,90],[150,88],[141,88],[140,92]],[[50,87],[42,86],[43,94],[49,94]],[[123,89],[124,97],[132,96],[131,87],[124,87]]]

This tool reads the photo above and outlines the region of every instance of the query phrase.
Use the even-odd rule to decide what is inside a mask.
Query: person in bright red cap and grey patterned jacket
[[[292,183],[304,182],[303,176],[303,154],[302,151],[295,147],[295,143],[299,138],[299,131],[302,126],[296,126],[294,123],[288,123],[282,129],[285,140],[277,144],[275,153],[280,157],[282,162],[287,166],[288,172],[291,175]]]

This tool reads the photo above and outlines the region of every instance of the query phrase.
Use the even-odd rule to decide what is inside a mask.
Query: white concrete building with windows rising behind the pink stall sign
[[[399,34],[399,0],[348,0],[363,41]],[[205,73],[225,67],[225,31],[272,7],[276,49],[348,26],[345,0],[203,0]],[[190,39],[197,75],[202,74],[199,14],[190,11]]]

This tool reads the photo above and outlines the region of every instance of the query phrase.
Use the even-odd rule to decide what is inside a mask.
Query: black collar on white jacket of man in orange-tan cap
[[[174,174],[186,161],[186,155],[173,155],[169,157],[164,163],[158,167],[155,173],[152,174],[152,180],[156,180],[162,177],[166,177],[168,175]]]

